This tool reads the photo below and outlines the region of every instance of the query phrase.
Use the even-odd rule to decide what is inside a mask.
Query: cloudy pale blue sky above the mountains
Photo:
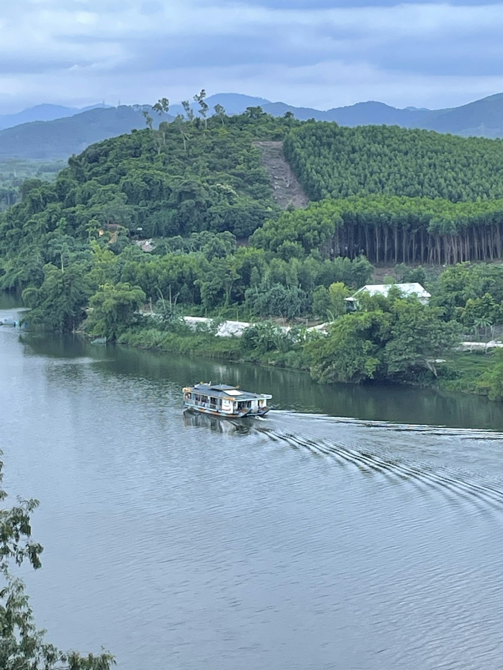
[[[503,2],[3,0],[0,113],[239,92],[330,109],[503,92]]]

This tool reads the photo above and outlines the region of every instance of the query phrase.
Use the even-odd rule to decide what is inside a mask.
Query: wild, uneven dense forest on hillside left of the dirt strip
[[[228,230],[245,237],[276,216],[254,139],[281,139],[290,119],[253,109],[237,117],[161,124],[86,149],[54,184],[30,180],[0,218],[0,287],[42,277],[54,249],[79,251],[100,229],[143,237]],[[1,271],[0,271],[1,274]]]

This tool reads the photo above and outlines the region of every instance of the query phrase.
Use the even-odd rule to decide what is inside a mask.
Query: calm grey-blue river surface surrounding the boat
[[[275,409],[185,415],[200,379]],[[120,670],[502,667],[501,405],[6,326],[0,400],[58,646]]]

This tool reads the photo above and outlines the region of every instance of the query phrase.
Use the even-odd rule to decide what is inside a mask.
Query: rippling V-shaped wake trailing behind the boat
[[[193,427],[209,427],[212,431],[235,435],[236,437],[245,437],[249,435],[262,435],[263,438],[275,444],[285,445],[296,450],[304,450],[324,458],[331,458],[341,465],[354,466],[360,472],[366,474],[378,474],[384,476],[390,482],[408,482],[416,488],[421,488],[423,492],[428,490],[437,491],[439,494],[455,501],[457,498],[465,498],[471,502],[478,502],[484,505],[490,505],[503,509],[503,484],[499,488],[499,482],[496,485],[486,482],[477,482],[476,477],[460,472],[451,472],[445,469],[445,465],[439,467],[439,464],[425,464],[407,462],[408,456],[414,458],[414,452],[427,457],[427,447],[431,444],[435,448],[439,445],[447,444],[450,453],[453,453],[452,440],[491,440],[498,444],[502,440],[502,433],[486,431],[482,429],[459,429],[442,426],[429,425],[410,425],[395,424],[385,421],[362,421],[361,419],[350,419],[346,417],[328,417],[323,415],[306,415],[292,412],[274,411],[270,413],[270,419],[254,417],[253,419],[231,420],[210,417],[204,414],[184,413],[186,425]],[[309,421],[309,425],[302,423],[303,419]],[[313,428],[313,421],[319,422]],[[288,422],[288,428],[282,424]],[[292,423],[296,423],[296,431],[292,431]],[[372,444],[371,448],[359,449],[353,444],[347,444],[342,440],[332,440],[326,435],[316,435],[323,431],[333,431],[335,425],[347,425],[348,431],[344,431],[345,437],[348,435],[353,442],[363,440]],[[362,434],[357,427],[372,429],[374,433]],[[309,437],[306,433],[310,433]],[[384,453],[384,450],[390,445],[388,431],[399,431],[408,433],[423,433],[427,435],[427,442],[418,443],[418,438],[404,441],[403,454],[405,458],[391,456]],[[313,435],[314,433],[314,435]],[[429,439],[435,437],[432,441]],[[404,435],[405,438],[405,435]],[[445,438],[444,441],[439,438]],[[401,440],[400,440],[401,442]],[[374,448],[372,448],[374,447]],[[471,452],[469,452],[471,453]],[[471,479],[471,481],[470,481]]]

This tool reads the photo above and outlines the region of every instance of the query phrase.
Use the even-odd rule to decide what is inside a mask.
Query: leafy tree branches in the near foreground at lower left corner
[[[1,457],[0,452],[0,457]],[[0,500],[3,490],[3,462],[0,461]],[[62,652],[46,642],[38,630],[23,582],[13,568],[27,562],[41,567],[42,545],[32,539],[30,516],[38,500],[18,499],[10,509],[0,509],[0,667],[2,670],[109,670],[115,660],[107,652],[81,656]]]

